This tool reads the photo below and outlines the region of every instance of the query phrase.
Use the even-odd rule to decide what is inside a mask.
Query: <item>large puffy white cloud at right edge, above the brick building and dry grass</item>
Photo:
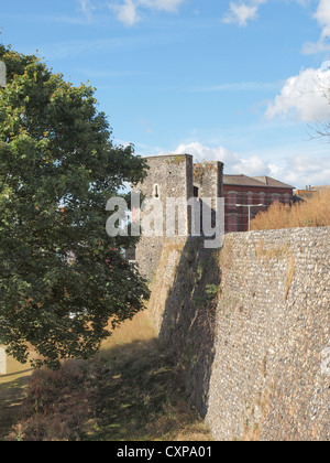
[[[285,115],[301,121],[324,120],[330,116],[329,89],[330,69],[301,71],[286,80],[280,95],[268,105],[266,117]]]

